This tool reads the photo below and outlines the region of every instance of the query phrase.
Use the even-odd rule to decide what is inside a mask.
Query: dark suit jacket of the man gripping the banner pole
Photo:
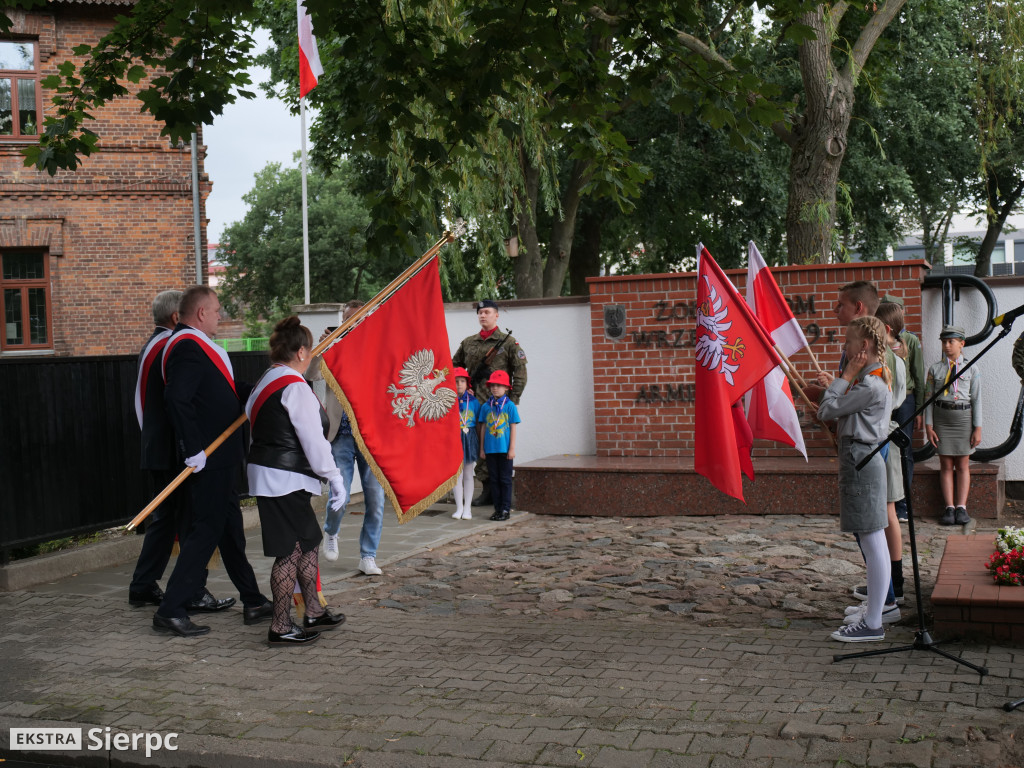
[[[187,329],[179,323],[175,335]],[[174,336],[168,345],[174,342]],[[164,402],[181,457],[196,456],[213,442],[242,414],[240,399],[220,369],[210,359],[194,338],[178,341],[164,360],[167,377]],[[242,429],[234,430],[219,449],[207,457],[210,469],[237,466],[244,456]]]

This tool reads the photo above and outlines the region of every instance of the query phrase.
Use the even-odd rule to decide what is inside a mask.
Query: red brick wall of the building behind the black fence
[[[14,15],[14,34],[38,40],[42,76],[95,43],[119,7],[52,5]],[[134,94],[144,85],[129,84]],[[44,115],[52,92],[43,90]],[[24,166],[23,144],[0,143],[0,248],[49,253],[53,349],[62,355],[138,350],[153,297],[196,281],[189,146],[171,146],[134,96],[93,112],[100,152],[55,176]],[[202,141],[202,135],[200,136]],[[200,151],[201,230],[211,184]],[[205,244],[202,253],[206,253]],[[205,259],[204,259],[205,260]]]

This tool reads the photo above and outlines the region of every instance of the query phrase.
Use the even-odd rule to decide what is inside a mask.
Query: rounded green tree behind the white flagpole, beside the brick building
[[[312,172],[307,179],[314,303],[369,299],[407,266],[406,255],[393,249],[367,254],[361,232],[370,215],[352,185],[348,165],[330,177]],[[222,300],[250,326],[273,323],[303,299],[301,170],[267,165],[244,200],[245,218],[225,228],[217,252],[226,267]]]

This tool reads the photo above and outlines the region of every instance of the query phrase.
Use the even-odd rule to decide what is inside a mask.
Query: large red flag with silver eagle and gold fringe
[[[436,256],[324,352],[324,378],[399,522],[462,467],[453,368]]]

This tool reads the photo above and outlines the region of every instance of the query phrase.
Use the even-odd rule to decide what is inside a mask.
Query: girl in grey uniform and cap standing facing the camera
[[[939,341],[945,359],[928,369],[925,381],[927,397],[936,390],[942,392],[925,409],[928,440],[939,455],[939,486],[946,505],[939,518],[942,525],[965,525],[971,521],[967,513],[971,454],[981,442],[981,372],[971,367],[956,381],[946,383],[968,364],[963,355],[966,338],[959,326],[942,328]]]

